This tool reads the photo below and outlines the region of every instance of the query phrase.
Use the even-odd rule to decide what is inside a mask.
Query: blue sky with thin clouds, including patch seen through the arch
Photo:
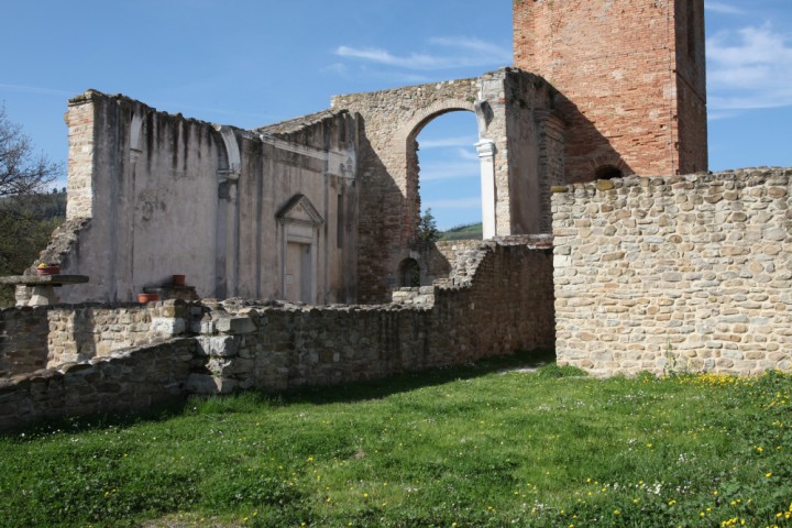
[[[792,2],[706,0],[710,168],[792,166]],[[254,128],[334,94],[479,76],[512,62],[512,2],[491,0],[3,0],[0,101],[67,157],[66,100],[88,88]],[[421,144],[441,228],[481,218],[475,120]]]

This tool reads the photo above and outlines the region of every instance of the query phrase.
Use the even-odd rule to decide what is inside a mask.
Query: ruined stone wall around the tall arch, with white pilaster
[[[416,241],[416,138],[442,113],[476,114],[484,238],[549,232],[549,207],[541,200],[549,200],[549,188],[563,174],[554,94],[541,78],[504,68],[475,79],[333,98],[334,109],[359,114],[364,127],[359,154],[359,300],[388,300],[399,263],[421,250]]]

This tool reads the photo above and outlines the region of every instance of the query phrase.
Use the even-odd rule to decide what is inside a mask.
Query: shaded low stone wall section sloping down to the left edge
[[[182,398],[195,361],[195,339],[183,338],[0,380],[0,431],[43,418],[128,413]]]

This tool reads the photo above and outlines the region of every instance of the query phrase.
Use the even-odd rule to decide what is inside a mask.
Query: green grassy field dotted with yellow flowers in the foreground
[[[0,438],[0,526],[792,526],[792,376],[535,359]]]

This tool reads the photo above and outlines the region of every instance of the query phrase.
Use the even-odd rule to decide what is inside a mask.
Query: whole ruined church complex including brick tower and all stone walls
[[[72,99],[59,274],[0,310],[0,430],[515,350],[791,369],[792,169],[707,172],[704,1],[514,0],[514,52],[255,130]],[[416,138],[453,111],[484,240],[421,243]]]

